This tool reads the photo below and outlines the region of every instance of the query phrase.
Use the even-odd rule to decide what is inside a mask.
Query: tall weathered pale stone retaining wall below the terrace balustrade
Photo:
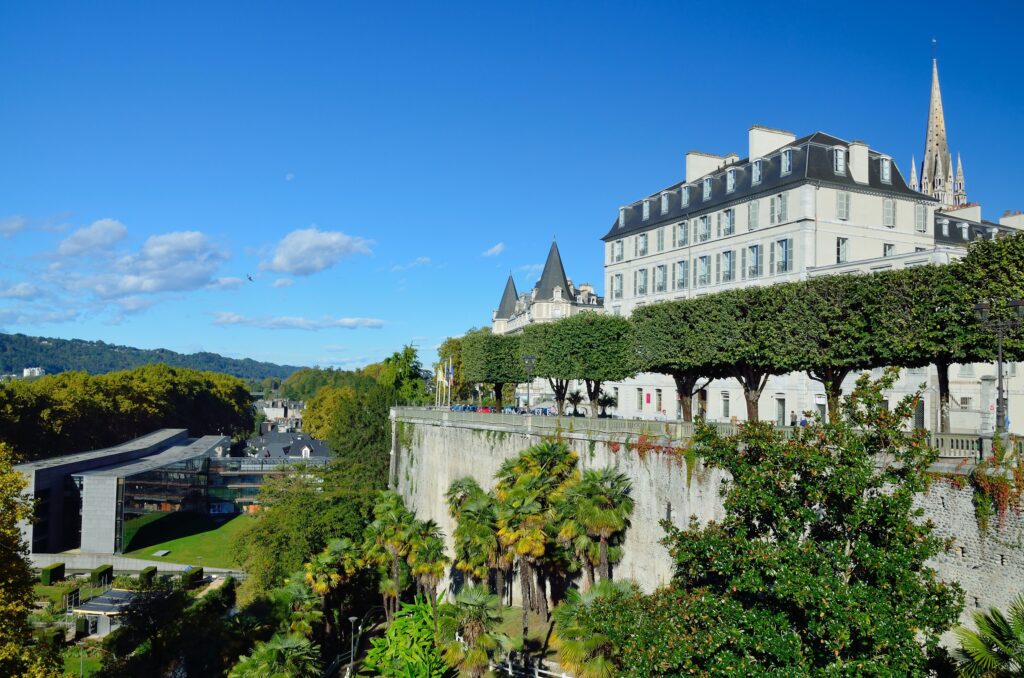
[[[668,517],[684,526],[691,515],[703,522],[721,518],[720,490],[724,475],[697,460],[687,468],[684,460],[615,447],[604,433],[582,430],[586,421],[568,420],[577,430],[562,431],[580,457],[581,468],[612,466],[633,482],[636,508],[626,536],[625,556],[615,566],[617,579],[635,579],[646,591],[667,583],[672,576],[669,555],[659,544],[664,531],[658,521]],[[545,431],[550,433],[550,431]],[[395,422],[392,436],[391,486],[420,519],[436,520],[444,531],[451,552],[455,527],[444,493],[456,479],[470,476],[483,488],[494,485],[501,464],[539,442],[540,433],[509,430],[501,425],[442,425],[441,422],[406,417]],[[1024,516],[1010,512],[1000,523],[992,520],[986,534],[975,520],[972,489],[957,489],[937,481],[919,500],[925,518],[939,536],[952,538],[953,548],[931,563],[946,581],[956,581],[967,591],[962,621],[968,623],[977,606],[1006,608],[1024,590]],[[513,591],[513,597],[517,597]]]

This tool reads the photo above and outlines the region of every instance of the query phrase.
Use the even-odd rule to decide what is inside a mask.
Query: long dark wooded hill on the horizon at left
[[[166,363],[178,368],[221,372],[242,379],[286,379],[299,368],[245,358],[224,357],[217,353],[175,353],[166,348],[146,350],[117,346],[103,341],[49,339],[24,334],[0,333],[0,374],[22,374],[23,368],[41,367],[47,374],[85,371],[103,374],[130,370],[142,365]]]

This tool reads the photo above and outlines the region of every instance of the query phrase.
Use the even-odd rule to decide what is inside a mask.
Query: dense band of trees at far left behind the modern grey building
[[[199,436],[252,427],[245,382],[212,372],[151,365],[0,384],[0,440],[30,459],[118,444],[159,428]]]

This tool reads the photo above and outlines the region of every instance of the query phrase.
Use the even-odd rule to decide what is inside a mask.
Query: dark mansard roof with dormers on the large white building
[[[868,150],[867,153],[867,183],[855,181],[849,168],[845,174],[837,174],[833,165],[831,150],[836,146],[844,146],[849,152],[850,143],[850,141],[833,136],[831,134],[815,132],[776,149],[763,158],[744,158],[731,165],[721,167],[691,183],[686,183],[685,181],[674,183],[657,193],[651,194],[645,199],[651,201],[650,218],[644,220],[642,210],[643,201],[637,201],[625,208],[625,223],[621,223],[616,219],[601,240],[615,240],[653,226],[693,218],[745,202],[753,198],[768,196],[804,183],[815,183],[851,190],[869,190],[923,202],[937,202],[930,196],[912,190],[896,167],[896,162],[890,156],[877,151]],[[793,166],[790,173],[782,176],[781,153],[786,149],[793,150]],[[849,158],[849,155],[847,158]],[[889,183],[882,181],[882,158],[889,158],[892,162],[891,181]],[[761,181],[757,184],[752,183],[751,177],[751,165],[754,160],[761,161]],[[730,170],[736,173],[735,188],[731,192],[727,190],[726,186],[726,172]],[[712,178],[712,194],[709,200],[703,200],[701,181],[708,176]],[[682,206],[680,192],[682,186],[687,186],[689,190],[689,204],[686,207]],[[669,211],[666,214],[662,213],[660,197],[663,194],[668,194],[669,196]]]

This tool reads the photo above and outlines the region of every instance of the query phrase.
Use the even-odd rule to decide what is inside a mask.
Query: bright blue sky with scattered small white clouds
[[[835,7],[833,6],[835,4]],[[932,36],[986,218],[1024,209],[1024,5],[0,3],[0,329],[355,367],[489,323],[557,237],[752,124],[920,161]],[[252,281],[249,278],[252,278]]]

